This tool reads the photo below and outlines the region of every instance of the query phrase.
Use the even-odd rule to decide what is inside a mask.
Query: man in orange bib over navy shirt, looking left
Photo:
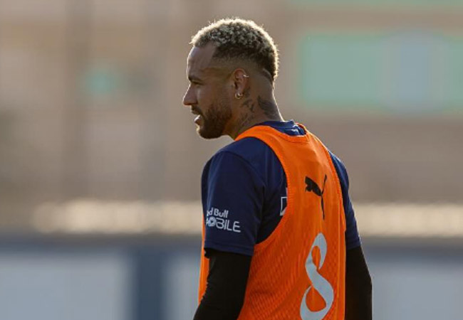
[[[202,175],[195,320],[371,319],[371,280],[343,164],[274,98],[278,52],[252,21],[192,38],[183,103],[205,139],[234,142]]]

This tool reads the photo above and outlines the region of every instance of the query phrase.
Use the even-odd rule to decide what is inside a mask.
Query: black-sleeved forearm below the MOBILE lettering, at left
[[[207,287],[194,320],[236,320],[244,302],[251,256],[207,250]]]

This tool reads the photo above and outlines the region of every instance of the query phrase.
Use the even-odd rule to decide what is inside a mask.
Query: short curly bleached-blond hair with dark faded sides
[[[212,42],[216,47],[213,58],[245,59],[256,63],[271,75],[278,75],[279,57],[274,40],[254,21],[225,18],[199,30],[190,42],[202,48]]]

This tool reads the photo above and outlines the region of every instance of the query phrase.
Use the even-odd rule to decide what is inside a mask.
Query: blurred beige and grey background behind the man
[[[375,319],[461,319],[463,1],[0,0],[0,319],[192,319],[189,40],[264,25],[276,98],[350,174]]]

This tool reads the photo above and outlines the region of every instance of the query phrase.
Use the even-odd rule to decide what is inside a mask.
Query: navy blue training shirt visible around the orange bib
[[[304,134],[293,121],[262,124],[291,136]],[[343,192],[346,246],[352,249],[360,245],[360,238],[348,196],[348,175],[334,154],[331,159]],[[254,245],[272,233],[286,208],[286,175],[274,151],[251,137],[217,151],[204,166],[202,206],[206,249],[253,255]]]

